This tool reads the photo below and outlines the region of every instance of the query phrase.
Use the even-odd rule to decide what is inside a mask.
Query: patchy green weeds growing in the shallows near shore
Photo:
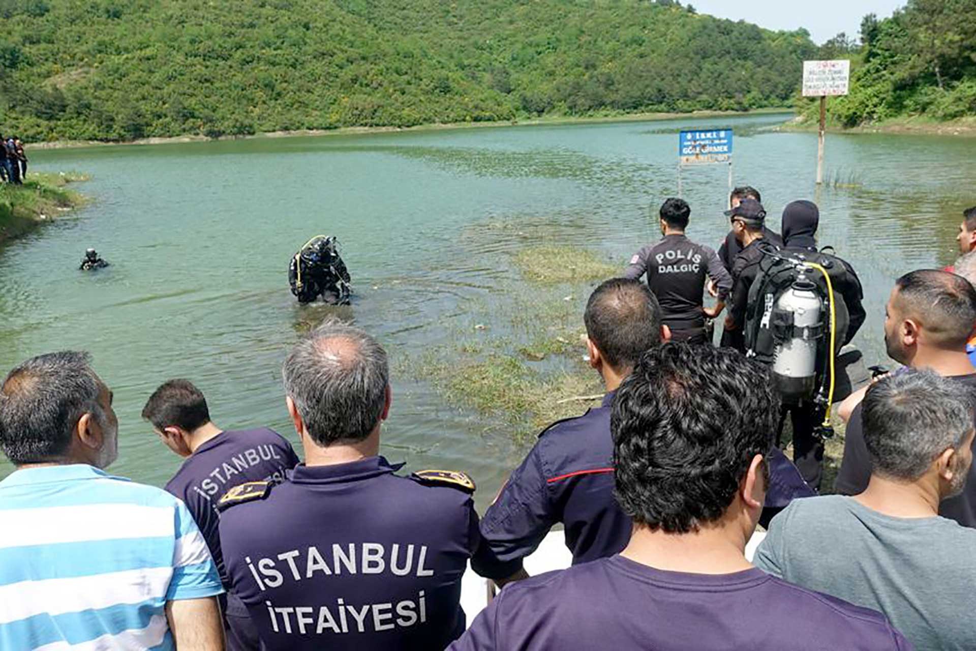
[[[512,264],[516,282],[469,308],[447,343],[406,359],[401,371],[430,382],[452,406],[525,444],[549,424],[598,405],[603,387],[590,368],[583,309],[592,286],[618,271],[586,249],[529,246]]]

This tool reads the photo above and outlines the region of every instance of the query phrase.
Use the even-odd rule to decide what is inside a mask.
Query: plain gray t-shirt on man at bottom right
[[[854,498],[795,500],[773,518],[756,567],[887,616],[916,649],[976,649],[976,530],[892,517]]]

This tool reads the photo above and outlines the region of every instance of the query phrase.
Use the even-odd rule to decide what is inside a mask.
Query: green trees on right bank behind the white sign
[[[820,56],[851,60],[850,95],[829,102],[840,126],[976,115],[976,0],[909,0],[891,18],[866,16],[860,43],[838,34]],[[804,109],[815,119],[813,102]]]

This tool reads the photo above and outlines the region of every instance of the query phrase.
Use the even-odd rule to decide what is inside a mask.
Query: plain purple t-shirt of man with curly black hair
[[[507,586],[448,650],[912,648],[879,613],[759,569],[686,574],[616,555]]]

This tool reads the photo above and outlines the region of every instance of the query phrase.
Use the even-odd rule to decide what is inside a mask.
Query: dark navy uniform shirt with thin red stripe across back
[[[486,553],[471,560],[475,572],[489,579],[508,578],[557,522],[565,527],[574,565],[627,547],[630,517],[613,497],[610,405],[614,395],[610,391],[599,407],[559,421],[540,434],[481,518]],[[793,499],[815,495],[782,452],[774,449],[770,454],[765,521]]]

